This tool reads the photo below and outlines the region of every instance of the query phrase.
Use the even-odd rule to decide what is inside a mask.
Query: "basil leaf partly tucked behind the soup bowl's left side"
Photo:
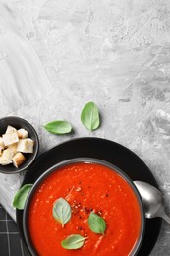
[[[26,184],[23,187],[19,189],[19,191],[16,193],[14,200],[13,200],[13,206],[19,210],[23,210],[25,206],[25,202],[28,197],[28,193],[33,185],[32,184]]]

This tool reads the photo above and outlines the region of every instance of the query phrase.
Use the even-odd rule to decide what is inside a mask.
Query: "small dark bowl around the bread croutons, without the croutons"
[[[28,131],[28,138],[34,141],[33,153],[24,154],[26,161],[21,166],[17,168],[12,163],[8,165],[0,165],[0,172],[4,174],[14,174],[27,170],[30,164],[35,160],[39,150],[39,140],[35,129],[28,123],[28,121],[16,116],[8,116],[0,119],[0,136],[5,133],[8,125],[13,126],[17,130],[21,128],[26,129]]]

